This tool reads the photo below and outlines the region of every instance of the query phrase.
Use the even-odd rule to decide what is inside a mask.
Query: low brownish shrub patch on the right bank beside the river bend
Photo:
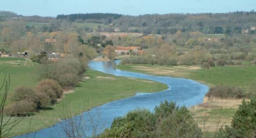
[[[219,98],[245,98],[248,97],[249,94],[245,93],[241,88],[218,85],[211,87],[206,96]]]

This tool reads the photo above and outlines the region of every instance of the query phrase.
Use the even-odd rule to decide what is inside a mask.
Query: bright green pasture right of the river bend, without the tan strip
[[[256,65],[212,67],[191,73],[189,78],[210,85],[221,84],[247,89],[250,82],[256,79]]]

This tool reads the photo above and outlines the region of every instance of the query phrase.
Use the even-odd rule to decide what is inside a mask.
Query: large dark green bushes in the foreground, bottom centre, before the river
[[[154,113],[135,110],[115,119],[99,138],[200,138],[201,129],[189,110],[165,101]]]

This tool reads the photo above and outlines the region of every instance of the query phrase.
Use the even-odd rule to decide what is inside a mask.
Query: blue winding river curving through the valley
[[[208,86],[200,84],[199,82],[183,79],[147,75],[143,73],[133,73],[129,71],[121,71],[115,69],[115,65],[119,60],[111,62],[94,62],[89,63],[89,67],[96,71],[101,71],[117,76],[125,76],[132,78],[141,78],[153,80],[168,85],[168,89],[159,93],[137,93],[133,97],[112,101],[102,106],[92,108],[92,110],[84,112],[73,119],[63,120],[61,123],[56,123],[54,126],[41,129],[37,132],[28,135],[17,136],[21,138],[34,137],[35,138],[58,138],[65,137],[64,129],[67,129],[67,122],[74,121],[76,124],[80,122],[80,133],[86,133],[91,136],[93,132],[99,133],[105,128],[110,127],[114,118],[118,116],[125,116],[129,111],[137,108],[146,108],[154,111],[155,106],[158,106],[161,101],[175,101],[179,106],[192,106],[202,103],[204,95],[208,91]],[[82,119],[82,121],[80,121]],[[93,122],[93,123],[91,123]],[[93,126],[91,125],[93,124]],[[78,125],[76,125],[78,126]],[[97,127],[95,127],[97,126]],[[95,128],[95,129],[93,129]],[[96,130],[96,131],[93,131]]]

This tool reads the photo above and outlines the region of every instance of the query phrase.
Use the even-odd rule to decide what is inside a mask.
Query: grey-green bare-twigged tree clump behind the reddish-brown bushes
[[[80,81],[80,75],[85,73],[87,60],[66,56],[57,61],[41,61],[39,80],[52,79],[61,84],[63,88],[74,88]]]

